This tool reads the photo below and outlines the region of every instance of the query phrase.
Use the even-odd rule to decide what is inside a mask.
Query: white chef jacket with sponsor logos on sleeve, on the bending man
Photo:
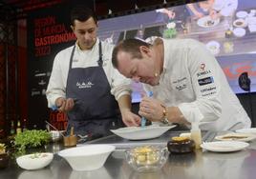
[[[167,107],[176,106],[188,122],[201,129],[250,128],[251,121],[230,89],[217,60],[192,39],[163,39],[164,62],[160,84],[144,84]]]

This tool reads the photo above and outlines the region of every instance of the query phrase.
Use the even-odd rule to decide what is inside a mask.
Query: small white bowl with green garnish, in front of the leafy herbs
[[[42,169],[53,161],[53,153],[33,153],[16,158],[22,169]]]

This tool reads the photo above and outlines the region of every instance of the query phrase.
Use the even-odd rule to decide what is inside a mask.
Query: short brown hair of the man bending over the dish
[[[142,55],[139,50],[139,47],[141,46],[145,46],[149,48],[151,45],[146,43],[145,41],[142,41],[136,38],[120,41],[112,52],[112,64],[114,68],[116,69],[118,68],[117,53],[119,51],[125,51],[130,53],[132,55],[132,58],[141,58]]]

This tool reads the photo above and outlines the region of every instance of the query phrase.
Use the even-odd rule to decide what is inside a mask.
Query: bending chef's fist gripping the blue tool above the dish
[[[139,104],[139,115],[150,121],[160,121],[163,117],[163,104],[158,99],[144,96]]]

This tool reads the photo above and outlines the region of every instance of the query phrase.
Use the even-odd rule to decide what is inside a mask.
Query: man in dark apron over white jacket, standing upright
[[[71,11],[75,45],[54,58],[46,92],[49,108],[67,112],[71,127],[80,135],[108,135],[110,129],[139,126],[131,111],[131,81],[112,66],[114,45],[96,37],[95,13],[83,6]]]

